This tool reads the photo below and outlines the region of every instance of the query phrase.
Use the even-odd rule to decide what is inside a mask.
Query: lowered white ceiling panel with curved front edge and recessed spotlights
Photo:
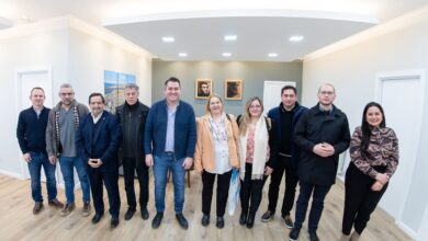
[[[293,61],[378,21],[369,15],[322,11],[215,10],[108,19],[103,23],[162,60]],[[225,35],[237,39],[226,42]],[[290,42],[294,35],[304,39]],[[174,42],[162,42],[165,36]]]

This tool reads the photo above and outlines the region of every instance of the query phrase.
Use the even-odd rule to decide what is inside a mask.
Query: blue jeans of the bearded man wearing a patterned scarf
[[[72,168],[76,168],[77,175],[79,176],[80,187],[83,193],[83,202],[88,203],[90,200],[90,186],[86,163],[83,163],[83,160],[81,160],[80,157],[63,157],[59,158],[59,164],[66,186],[67,204],[75,203],[75,173]]]

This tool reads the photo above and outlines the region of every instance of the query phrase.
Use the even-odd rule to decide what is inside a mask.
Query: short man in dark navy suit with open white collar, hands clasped
[[[119,210],[121,198],[119,196],[119,165],[117,149],[121,138],[121,127],[117,118],[104,110],[104,96],[100,93],[89,95],[91,113],[81,120],[76,146],[81,159],[87,163],[89,180],[91,183],[93,206],[95,215],[92,223],[100,221],[104,214],[103,187],[109,196],[110,214],[112,216],[110,227],[119,225]]]

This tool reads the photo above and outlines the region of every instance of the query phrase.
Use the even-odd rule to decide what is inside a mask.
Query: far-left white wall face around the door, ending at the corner
[[[67,76],[68,31],[56,30],[36,35],[0,38],[0,103],[2,118],[0,125],[0,171],[21,176],[22,161],[16,139],[18,115],[21,99],[16,96],[18,83],[15,71],[19,69],[50,66],[52,78],[63,79]],[[30,93],[29,93],[30,96]],[[47,97],[52,94],[46,93]]]

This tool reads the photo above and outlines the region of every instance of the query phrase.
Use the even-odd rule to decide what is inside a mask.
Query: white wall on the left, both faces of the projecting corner
[[[140,99],[151,104],[151,57],[144,49],[105,30],[98,30],[72,18],[58,18],[27,26],[0,31],[0,173],[22,176],[21,151],[16,140],[16,122],[21,96],[15,71],[50,67],[54,103],[64,82],[74,85],[76,97],[87,103],[91,92],[103,92],[103,71],[134,73]]]

